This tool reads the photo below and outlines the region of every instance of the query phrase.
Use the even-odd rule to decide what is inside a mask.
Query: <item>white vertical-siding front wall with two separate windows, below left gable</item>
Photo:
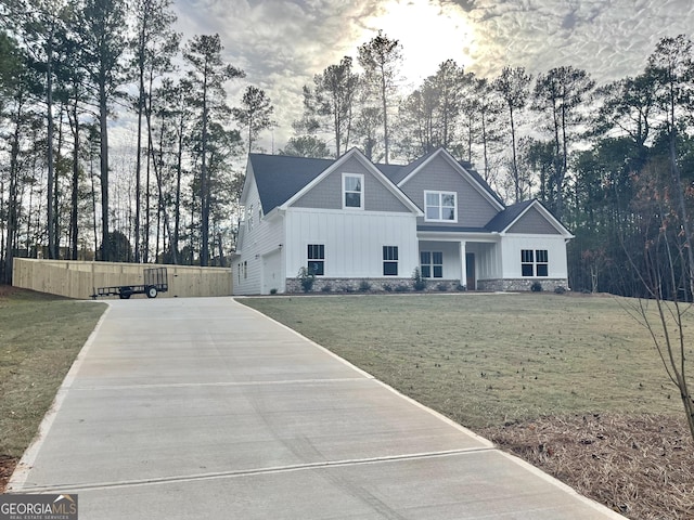
[[[325,246],[325,277],[383,277],[383,246],[398,246],[398,277],[419,264],[412,213],[288,208],[286,277],[307,264],[307,246]]]

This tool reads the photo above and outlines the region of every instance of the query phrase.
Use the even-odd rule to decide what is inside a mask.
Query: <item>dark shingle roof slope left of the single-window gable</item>
[[[250,154],[248,160],[266,213],[286,203],[335,162],[334,159],[266,154]]]

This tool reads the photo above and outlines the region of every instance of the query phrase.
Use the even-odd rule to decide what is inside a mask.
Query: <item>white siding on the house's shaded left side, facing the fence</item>
[[[258,196],[258,190],[253,183],[249,186],[248,196],[246,198],[246,208],[253,205],[254,209],[254,224],[248,229],[247,219],[244,220],[241,225],[244,226],[243,242],[240,244],[242,249],[239,251],[240,257],[234,259],[232,265],[232,272],[234,277],[234,295],[259,295],[261,292],[268,292],[270,287],[266,280],[264,284],[264,264],[266,270],[268,265],[273,270],[272,255],[278,253],[282,256],[284,253],[284,229],[282,216],[275,216],[271,221],[267,218],[259,218],[258,208],[260,207],[260,197]],[[283,245],[280,248],[280,244]],[[270,264],[268,264],[268,258],[270,258]],[[244,269],[245,263],[245,269]],[[266,274],[268,276],[270,274]],[[271,288],[278,289],[279,292],[284,291],[284,273],[274,274],[279,280]],[[265,285],[265,287],[264,287]],[[265,289],[265,291],[264,291]]]

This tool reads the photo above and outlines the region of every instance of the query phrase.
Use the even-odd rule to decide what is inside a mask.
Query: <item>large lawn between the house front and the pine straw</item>
[[[241,301],[473,429],[548,415],[682,413],[628,300],[461,294]]]

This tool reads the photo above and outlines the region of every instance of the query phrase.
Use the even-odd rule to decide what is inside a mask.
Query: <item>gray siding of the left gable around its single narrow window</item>
[[[343,164],[312,190],[293,204],[299,208],[343,209],[343,173],[364,176],[364,209],[368,211],[410,212],[380,179],[367,170],[357,159]]]

